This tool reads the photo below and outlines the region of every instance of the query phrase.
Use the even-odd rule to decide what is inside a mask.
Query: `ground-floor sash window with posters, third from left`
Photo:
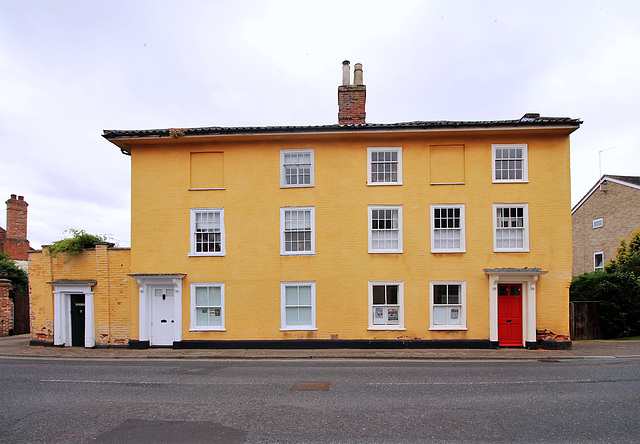
[[[404,283],[369,281],[369,329],[404,329]]]

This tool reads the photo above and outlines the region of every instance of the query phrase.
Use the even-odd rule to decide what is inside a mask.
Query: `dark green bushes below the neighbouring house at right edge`
[[[572,301],[600,301],[600,329],[605,338],[640,334],[640,230],[620,241],[604,271],[573,278]]]

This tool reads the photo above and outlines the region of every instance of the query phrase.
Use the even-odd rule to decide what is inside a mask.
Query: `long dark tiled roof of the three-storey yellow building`
[[[569,117],[540,117],[539,114],[525,114],[517,120],[488,121],[415,121],[401,123],[365,123],[362,125],[315,125],[315,126],[249,126],[201,128],[165,128],[146,130],[104,130],[107,140],[120,138],[145,137],[182,137],[232,134],[286,134],[286,133],[323,133],[323,132],[367,132],[379,130],[437,130],[437,129],[481,129],[481,128],[527,128],[527,127],[566,127],[577,128],[582,121]]]

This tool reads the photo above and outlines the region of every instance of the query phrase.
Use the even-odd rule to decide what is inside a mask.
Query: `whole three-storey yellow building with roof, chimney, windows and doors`
[[[581,122],[368,124],[348,68],[336,125],[105,131],[131,156],[130,346],[568,335]]]

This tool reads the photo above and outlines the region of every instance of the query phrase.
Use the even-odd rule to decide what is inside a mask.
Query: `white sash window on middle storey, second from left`
[[[280,254],[315,254],[314,207],[280,208]]]

